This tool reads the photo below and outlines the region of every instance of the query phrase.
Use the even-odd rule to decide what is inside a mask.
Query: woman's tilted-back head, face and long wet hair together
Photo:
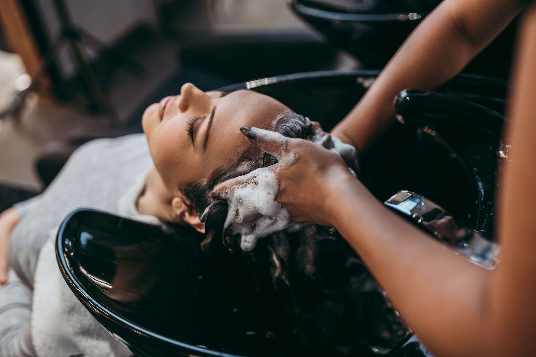
[[[250,90],[204,93],[187,84],[180,96],[146,110],[143,127],[151,156],[173,196],[167,200],[170,217],[205,233],[206,252],[248,260],[259,292],[272,296],[270,290],[276,290],[270,308],[287,318],[303,346],[351,350],[364,343],[394,343],[403,326],[336,231],[318,225],[280,231],[259,239],[251,252],[241,249],[239,234],[224,231],[228,204],[211,198],[214,186],[277,162],[245,140],[242,126],[311,141],[326,135],[318,123]]]

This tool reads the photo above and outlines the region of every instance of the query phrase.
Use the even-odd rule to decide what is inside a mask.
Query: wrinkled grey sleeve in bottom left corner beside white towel
[[[35,357],[30,332],[32,291],[13,270],[8,279],[0,285],[0,356]]]

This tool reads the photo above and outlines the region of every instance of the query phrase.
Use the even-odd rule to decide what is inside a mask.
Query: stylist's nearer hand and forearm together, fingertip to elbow
[[[279,177],[278,201],[293,221],[335,226],[406,323],[438,356],[491,352],[485,318],[487,270],[461,259],[385,208],[336,153],[258,128],[242,132],[253,145],[286,162],[271,168]]]

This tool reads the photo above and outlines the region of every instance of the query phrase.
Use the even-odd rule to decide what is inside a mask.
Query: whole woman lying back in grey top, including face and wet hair
[[[390,345],[403,333],[382,291],[335,232],[312,226],[292,234],[273,234],[245,253],[236,237],[223,232],[225,204],[214,206],[206,221],[200,221],[211,203],[209,192],[214,185],[274,162],[270,155],[251,148],[241,126],[309,140],[315,139],[318,129],[317,123],[271,97],[250,90],[205,93],[187,83],[180,95],[164,98],[145,111],[148,150],[141,134],[87,143],[71,156],[43,194],[4,214],[0,226],[9,229],[6,236],[0,233],[0,242],[11,236],[10,268],[15,274],[0,290],[0,320],[10,321],[0,326],[0,354],[58,355],[66,353],[61,348],[70,339],[72,346],[78,346],[68,351],[70,354],[87,354],[99,341],[103,355],[129,355],[80,309],[61,276],[47,272],[55,269],[58,273],[54,257],[47,260],[43,256],[49,254],[42,249],[49,231],[79,206],[206,231],[203,246],[207,252],[239,255],[258,267],[259,288],[274,297],[269,308],[286,317],[302,345]],[[38,260],[48,263],[39,265]],[[41,290],[40,286],[49,282],[34,277],[43,275],[58,280],[61,289],[56,293],[61,298]],[[32,310],[32,299],[62,299],[62,305],[38,312]],[[58,319],[71,323],[51,328],[50,321]],[[84,337],[88,333],[93,339]],[[37,335],[40,340],[31,337]],[[93,342],[85,346],[83,341]]]

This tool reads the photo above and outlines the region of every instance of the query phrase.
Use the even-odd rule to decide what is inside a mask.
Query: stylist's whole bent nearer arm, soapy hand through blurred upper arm
[[[394,215],[337,154],[305,140],[243,129],[253,145],[286,162],[271,167],[280,180],[278,200],[295,221],[334,225],[436,356],[536,351],[536,5],[523,25],[508,133],[512,150],[498,207],[502,255],[493,271]]]

